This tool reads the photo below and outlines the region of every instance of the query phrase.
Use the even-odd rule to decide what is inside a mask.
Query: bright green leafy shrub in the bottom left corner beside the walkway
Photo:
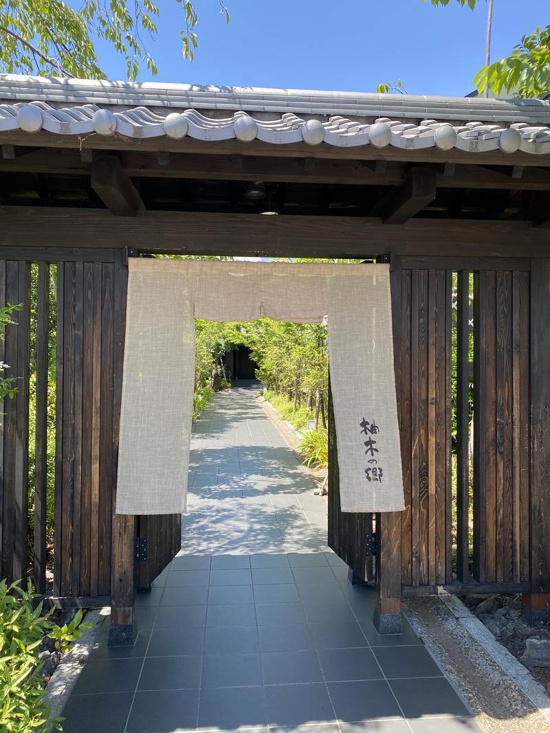
[[[38,647],[52,627],[53,609],[44,615],[42,603],[33,609],[36,597],[30,583],[27,590],[19,581],[0,583],[0,730],[6,733],[37,730],[48,721]]]

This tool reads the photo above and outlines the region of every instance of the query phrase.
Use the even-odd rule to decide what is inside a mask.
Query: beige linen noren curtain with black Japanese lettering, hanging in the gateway
[[[132,258],[128,267],[118,514],[185,507],[194,318],[327,314],[342,512],[404,509],[389,265]]]

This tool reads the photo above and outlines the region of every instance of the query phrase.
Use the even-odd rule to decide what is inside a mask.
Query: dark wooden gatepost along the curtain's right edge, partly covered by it
[[[389,262],[392,290],[392,328],[396,377],[397,416],[401,423],[400,361],[401,361],[401,260],[384,255],[379,262]],[[401,623],[401,514],[384,512],[376,515],[376,605],[374,625],[381,634],[403,630]]]

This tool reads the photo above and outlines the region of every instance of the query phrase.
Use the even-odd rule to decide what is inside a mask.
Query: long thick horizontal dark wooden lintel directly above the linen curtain
[[[115,218],[103,209],[0,207],[0,246],[76,249],[136,247],[180,254],[263,257],[550,257],[550,232],[527,221],[414,218],[386,226],[359,216],[259,216],[139,211]]]

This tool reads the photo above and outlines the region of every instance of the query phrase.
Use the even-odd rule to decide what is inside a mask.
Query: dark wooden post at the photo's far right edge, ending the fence
[[[523,615],[550,620],[550,259],[531,261],[531,582]]]

